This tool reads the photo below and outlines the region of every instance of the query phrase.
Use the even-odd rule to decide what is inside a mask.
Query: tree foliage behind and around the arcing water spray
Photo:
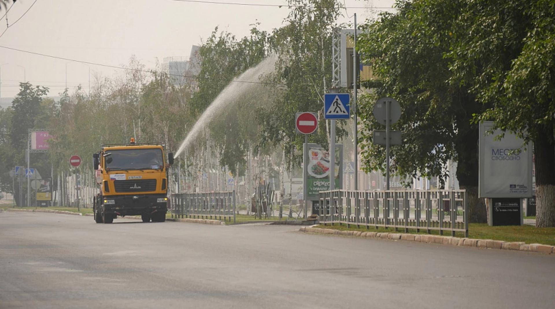
[[[239,40],[228,32],[218,33],[216,27],[201,45],[201,67],[196,78],[198,89],[191,100],[191,109],[197,118],[222,90],[230,83],[236,83],[233,80],[268,56],[269,35],[257,27],[258,24],[253,25],[250,36]],[[215,145],[214,155],[220,158],[221,166],[229,166],[234,175],[238,174],[238,166],[246,164],[246,154],[255,142],[258,124],[253,107],[268,99],[262,88],[260,85],[241,94],[239,102],[226,102],[225,111],[220,110],[209,125],[213,133],[211,142]],[[203,144],[202,141],[199,143]]]

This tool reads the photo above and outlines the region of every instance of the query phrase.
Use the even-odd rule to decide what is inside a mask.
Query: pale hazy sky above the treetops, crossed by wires
[[[286,3],[285,0],[206,1]],[[359,23],[372,16],[365,7],[388,8],[394,2],[345,0],[347,13],[349,16],[357,13]],[[162,62],[164,57],[188,57],[191,45],[200,45],[216,26],[240,38],[248,35],[250,24],[257,21],[266,31],[280,27],[288,12],[286,7],[173,0],[18,0],[7,14],[10,27],[6,30],[6,17],[0,21],[0,34],[6,30],[0,37],[0,46],[118,67],[135,55],[147,68],[154,68],[157,58]],[[3,9],[0,16],[4,13]],[[345,10],[342,13],[345,15]],[[352,18],[343,17],[340,22],[352,22]],[[0,65],[0,95],[3,98],[14,97],[19,90],[18,83],[24,79],[33,85],[49,87],[49,95],[58,95],[66,82],[69,89],[82,84],[87,90],[89,68],[91,81],[94,74],[115,76],[122,73],[120,69],[6,48],[0,48]]]

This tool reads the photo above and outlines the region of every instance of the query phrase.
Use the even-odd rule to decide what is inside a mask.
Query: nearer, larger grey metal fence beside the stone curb
[[[325,207],[324,207],[325,205]],[[385,227],[395,231],[464,232],[468,237],[465,190],[320,191],[320,224]]]

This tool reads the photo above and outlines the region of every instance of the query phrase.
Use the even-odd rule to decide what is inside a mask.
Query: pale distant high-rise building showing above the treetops
[[[162,71],[168,73],[171,82],[176,87],[185,85],[195,86],[194,77],[200,72],[200,59],[198,57],[199,47],[193,45],[189,58],[165,57],[162,63]]]

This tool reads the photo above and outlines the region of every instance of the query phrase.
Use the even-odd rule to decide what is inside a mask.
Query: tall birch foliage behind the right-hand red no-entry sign
[[[331,81],[331,36],[340,15],[336,0],[289,0],[285,26],[275,29],[272,48],[278,55],[276,72],[268,77],[276,99],[270,108],[256,110],[264,130],[261,146],[285,144],[286,158],[302,147],[304,136],[295,131],[296,112],[317,112],[319,128],[311,143],[327,145],[324,94]],[[337,130],[342,136],[345,130]]]

